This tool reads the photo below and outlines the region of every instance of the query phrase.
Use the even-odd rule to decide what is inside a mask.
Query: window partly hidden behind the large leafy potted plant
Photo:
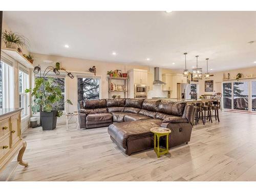
[[[65,102],[64,102],[65,101],[65,77],[55,77],[55,76],[49,76],[49,77],[52,77],[54,79],[53,85],[58,86],[61,89],[61,94],[63,96],[60,101],[53,104],[53,109],[57,108],[58,106],[59,110],[65,111]],[[38,78],[38,77],[35,77],[35,78]]]

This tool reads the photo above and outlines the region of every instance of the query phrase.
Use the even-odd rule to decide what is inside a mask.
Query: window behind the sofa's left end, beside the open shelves
[[[99,78],[77,78],[78,103],[84,99],[99,99]]]

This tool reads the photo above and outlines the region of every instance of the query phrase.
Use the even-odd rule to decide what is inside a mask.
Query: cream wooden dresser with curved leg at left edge
[[[27,143],[20,131],[22,108],[0,109],[0,172],[18,153],[17,164],[28,166],[23,161]]]

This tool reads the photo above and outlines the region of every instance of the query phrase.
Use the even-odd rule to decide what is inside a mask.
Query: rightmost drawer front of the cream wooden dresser
[[[12,146],[19,140],[19,113],[11,116],[11,138],[12,138]]]

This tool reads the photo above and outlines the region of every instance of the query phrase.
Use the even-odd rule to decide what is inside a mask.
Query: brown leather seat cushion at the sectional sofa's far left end
[[[113,116],[111,113],[89,114],[86,116],[86,124],[92,125],[92,124],[101,124],[101,123],[112,122],[112,117]]]

